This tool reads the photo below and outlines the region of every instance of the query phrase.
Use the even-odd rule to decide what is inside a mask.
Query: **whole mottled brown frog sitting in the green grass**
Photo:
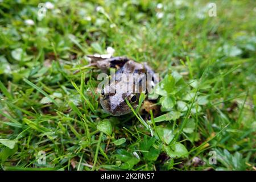
[[[152,75],[152,79],[150,81],[146,82],[147,86],[151,86],[153,88],[156,84],[159,82],[159,78],[155,76],[155,72],[153,69],[148,66],[146,62],[138,63],[137,61],[133,59],[129,59],[126,56],[118,56],[118,57],[102,57],[100,55],[87,55],[87,57],[90,60],[91,65],[96,65],[97,68],[101,69],[102,72],[106,73],[110,68],[115,68],[115,76],[118,74],[124,74],[127,75],[127,77],[130,75],[134,75],[137,73],[140,78],[138,78],[139,84],[141,84],[143,77],[147,76],[149,73]],[[143,74],[144,73],[144,74]],[[139,85],[139,92],[134,92],[135,85],[134,82],[131,84],[131,89],[127,90],[127,92],[122,92],[121,89],[118,86],[121,86],[122,84],[129,84],[130,80],[122,80],[118,78],[114,78],[114,85],[115,90],[114,92],[108,92],[110,89],[112,89],[112,84],[105,85],[104,88],[102,88],[100,92],[100,104],[104,111],[106,113],[113,115],[113,116],[121,116],[125,114],[129,114],[132,112],[131,108],[127,104],[127,101],[129,101],[130,105],[133,107],[133,109],[136,109],[139,105],[139,97],[142,93],[142,86]],[[147,96],[148,92],[144,92]],[[142,110],[144,113],[149,113],[149,109],[152,109],[154,113],[158,112],[158,107],[153,106],[155,103],[154,101],[149,101],[148,97],[146,97],[146,100],[142,103]]]

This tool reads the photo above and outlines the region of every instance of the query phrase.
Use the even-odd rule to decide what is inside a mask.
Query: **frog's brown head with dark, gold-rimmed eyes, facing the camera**
[[[127,99],[131,106],[135,109],[138,106],[139,95],[135,93],[123,93],[115,91],[115,93],[106,93],[106,89],[101,91],[101,106],[111,115],[123,115],[131,112],[130,107],[127,105]]]

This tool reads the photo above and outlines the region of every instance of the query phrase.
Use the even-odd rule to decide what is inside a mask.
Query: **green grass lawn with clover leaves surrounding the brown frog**
[[[39,20],[40,2],[0,2],[1,170],[256,169],[254,1],[209,17],[205,1],[61,0]],[[158,117],[102,110],[85,55],[109,46],[160,73]]]

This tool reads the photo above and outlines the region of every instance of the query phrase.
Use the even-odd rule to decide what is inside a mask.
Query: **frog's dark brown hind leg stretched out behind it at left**
[[[87,57],[90,58],[91,64],[96,65],[102,71],[106,71],[109,68],[119,69],[127,61],[129,61],[129,59],[125,56],[105,58],[101,57],[100,55],[88,55]]]

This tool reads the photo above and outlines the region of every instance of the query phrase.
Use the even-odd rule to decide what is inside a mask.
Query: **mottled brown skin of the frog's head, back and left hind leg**
[[[148,73],[154,74],[154,71],[146,63],[137,63],[134,60],[128,59],[127,57],[111,57],[109,59],[102,59],[100,57],[88,56],[94,64],[97,65],[103,72],[106,72],[109,68],[116,68],[116,75],[118,73],[123,73],[125,75],[129,75],[129,73],[144,73],[147,75]],[[129,79],[128,79],[129,80]],[[127,80],[125,80],[128,82]],[[152,78],[150,83],[154,86],[158,82],[157,78]],[[115,78],[114,80],[115,88],[124,84],[124,80]],[[131,84],[133,85],[133,84]],[[123,93],[121,89],[115,89],[114,93],[106,92],[111,88],[111,84],[105,86],[104,89],[101,90],[101,98],[100,103],[102,108],[107,111],[109,114],[114,116],[119,116],[123,114],[131,113],[130,107],[126,103],[126,99],[130,102],[131,106],[135,109],[138,106],[139,97],[141,93],[135,93],[134,88],[132,88],[129,92]]]

